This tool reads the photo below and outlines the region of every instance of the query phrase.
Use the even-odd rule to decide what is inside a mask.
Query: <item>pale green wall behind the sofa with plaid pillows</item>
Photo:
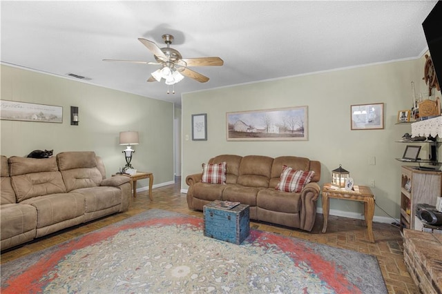
[[[182,191],[188,188],[186,175],[199,173],[201,164],[216,155],[295,155],[321,162],[321,185],[331,182],[331,171],[339,164],[356,185],[369,186],[374,180],[376,204],[398,217],[402,164],[395,157],[402,156],[405,145],[395,141],[411,133],[411,126],[396,125],[396,119],[398,110],[412,106],[411,81],[417,93],[427,92],[424,61],[422,57],[182,95]],[[351,130],[350,106],[374,103],[385,104],[385,128]],[[227,141],[227,112],[292,106],[308,106],[308,141]],[[191,115],[199,113],[207,114],[207,141],[191,140]],[[369,165],[372,156],[376,165]],[[426,156],[425,146],[421,157]],[[334,199],[331,213],[361,217],[363,205]],[[386,216],[377,207],[375,215]]]

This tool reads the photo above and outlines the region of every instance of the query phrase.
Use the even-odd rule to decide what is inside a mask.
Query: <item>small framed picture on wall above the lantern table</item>
[[[381,130],[384,128],[384,104],[350,106],[352,130]]]

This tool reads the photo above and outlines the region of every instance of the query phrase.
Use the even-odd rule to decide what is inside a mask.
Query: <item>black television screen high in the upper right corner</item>
[[[422,27],[439,86],[442,86],[442,1],[437,1],[430,14],[423,21]]]

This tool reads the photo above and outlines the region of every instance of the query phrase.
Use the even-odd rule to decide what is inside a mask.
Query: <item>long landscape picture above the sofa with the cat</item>
[[[0,119],[63,123],[63,107],[0,100]]]

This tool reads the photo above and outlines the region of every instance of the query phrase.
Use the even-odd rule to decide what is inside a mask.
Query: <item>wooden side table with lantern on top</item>
[[[367,186],[354,186],[354,190],[347,191],[344,188],[334,188],[332,184],[324,184],[323,186],[323,214],[324,226],[323,233],[327,231],[327,223],[329,219],[329,199],[347,199],[358,202],[364,202],[364,216],[367,224],[368,238],[374,243],[372,223],[374,215],[374,195],[372,190]]]

